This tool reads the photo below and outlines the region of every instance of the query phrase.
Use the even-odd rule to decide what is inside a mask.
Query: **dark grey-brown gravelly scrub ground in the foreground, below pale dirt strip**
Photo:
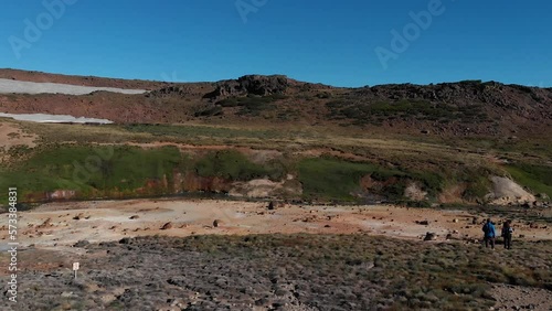
[[[485,280],[506,267],[484,267],[495,255],[368,235],[82,240],[18,251],[18,302],[0,310],[549,310],[550,290]],[[522,277],[531,260],[508,261]]]

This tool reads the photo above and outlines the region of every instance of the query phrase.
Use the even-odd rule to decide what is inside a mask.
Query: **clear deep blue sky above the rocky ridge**
[[[182,82],[285,74],[337,86],[552,86],[550,0],[442,0],[440,13],[407,49],[395,49],[386,68],[375,49],[393,52],[391,31],[403,33],[410,12],[435,0],[240,0],[243,10],[262,4],[246,22],[236,0],[45,2],[59,1],[76,3],[55,17],[42,0],[1,2],[0,67]],[[25,19],[42,33],[25,39]]]

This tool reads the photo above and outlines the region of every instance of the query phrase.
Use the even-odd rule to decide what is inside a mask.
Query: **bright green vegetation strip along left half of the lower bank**
[[[226,181],[280,180],[285,168],[279,161],[253,163],[235,150],[191,157],[176,147],[55,146],[1,169],[0,186],[17,186],[21,201],[41,201],[56,190],[76,191],[81,199],[163,195],[173,193],[174,172]]]

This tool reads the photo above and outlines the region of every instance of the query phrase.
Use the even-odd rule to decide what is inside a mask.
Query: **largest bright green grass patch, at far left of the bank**
[[[0,186],[18,186],[22,194],[55,190],[74,190],[83,196],[109,190],[131,194],[148,180],[170,179],[179,161],[172,147],[59,146],[0,171]]]

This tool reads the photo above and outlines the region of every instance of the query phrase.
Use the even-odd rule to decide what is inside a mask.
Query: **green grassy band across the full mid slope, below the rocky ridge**
[[[440,114],[442,109],[424,101],[404,100],[373,103],[365,107],[371,109],[372,117],[405,111],[422,111],[422,116],[434,109]],[[461,110],[458,108],[456,112]],[[291,112],[294,109],[289,108]],[[279,130],[263,126],[257,129],[212,125],[20,125],[28,133],[40,133],[40,140],[34,148],[23,144],[0,148],[0,157],[8,159],[0,168],[0,186],[19,185],[22,193],[36,195],[34,199],[55,190],[74,190],[83,199],[172,194],[176,189],[181,190],[180,185],[174,185],[174,172],[188,178],[190,183],[201,184],[193,191],[200,191],[198,187],[212,191],[205,186],[212,178],[224,180],[224,189],[229,189],[232,181],[265,176],[282,181],[289,173],[298,176],[306,200],[358,203],[378,197],[411,206],[428,206],[449,189],[457,189],[450,194],[455,196],[453,201],[482,202],[491,185],[488,178],[508,171],[535,194],[552,196],[551,168],[538,164],[550,158],[552,149],[545,139],[372,137],[372,133],[339,129],[295,127]],[[124,147],[128,142],[145,144]],[[198,147],[182,146],[188,149],[183,156],[177,147],[155,147],[158,142]],[[97,147],[98,143],[104,147]],[[102,159],[97,170],[83,176],[86,159],[97,156],[96,152],[105,153],[107,143],[116,143],[114,156]],[[203,144],[229,148],[208,152],[201,148]],[[251,148],[252,152],[242,148]],[[311,159],[310,150],[331,157]],[[254,159],[257,156],[253,153],[265,151],[275,158]],[[498,164],[490,161],[488,154],[516,164]],[[191,180],[197,176],[203,178],[202,182]],[[427,192],[426,201],[408,202],[403,197],[405,187],[412,182]],[[2,197],[6,194],[0,193]]]

